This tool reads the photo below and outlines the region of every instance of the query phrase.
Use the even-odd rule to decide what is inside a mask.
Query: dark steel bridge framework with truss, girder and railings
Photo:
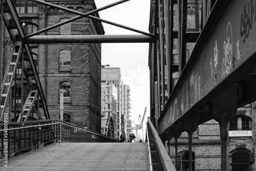
[[[175,170],[162,142],[167,140],[169,142],[173,137],[177,142],[181,133],[186,131],[189,137],[189,170],[192,170],[193,132],[197,130],[198,125],[215,119],[220,124],[221,170],[227,170],[228,122],[236,115],[238,108],[256,100],[255,1],[195,0],[195,27],[188,28],[188,1],[152,0],[150,33],[91,15],[129,0],[119,1],[87,13],[39,0],[31,1],[77,16],[53,27],[26,35],[14,2],[11,0],[1,2],[1,24],[4,22],[13,42],[7,70],[1,78],[2,158],[6,154],[8,158],[12,157],[12,154],[19,155],[26,149],[31,151],[32,148],[36,149],[40,145],[53,143],[53,146],[56,146],[56,141],[116,141],[100,134],[89,133],[75,125],[50,119],[29,44],[72,43],[75,42],[74,40],[82,43],[149,42],[151,117],[147,122],[150,127],[147,140],[153,140],[153,145],[149,143],[144,147],[148,147],[146,161],[148,168],[153,170],[154,166],[155,170]],[[89,17],[141,35],[38,35],[81,17]],[[3,24],[1,31],[2,28]],[[2,32],[0,39],[3,39]],[[188,55],[187,44],[189,43],[195,44]],[[18,63],[22,65],[21,72],[29,84],[30,93],[22,103],[24,104],[22,112],[15,114],[18,119],[13,123],[7,123],[5,110],[12,83],[16,80],[14,73],[20,67]],[[39,109],[43,109],[44,112],[40,114]],[[36,115],[38,120],[27,121],[28,117],[33,115]],[[8,137],[4,136],[5,133],[8,133]],[[89,137],[86,137],[88,135]],[[8,144],[7,148],[5,144]],[[153,148],[154,151],[152,151]],[[40,154],[39,150],[37,152]],[[16,160],[18,161],[19,158],[13,159],[13,161]],[[176,158],[176,170],[177,165]]]

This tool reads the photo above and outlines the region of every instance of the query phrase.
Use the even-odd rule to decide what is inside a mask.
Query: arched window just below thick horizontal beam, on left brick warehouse
[[[68,49],[63,49],[59,51],[59,71],[71,71],[70,66],[71,61],[71,51]]]

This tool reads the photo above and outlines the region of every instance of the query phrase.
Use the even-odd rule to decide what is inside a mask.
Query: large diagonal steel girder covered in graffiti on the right
[[[200,51],[191,54],[193,66],[189,66],[160,119],[159,124],[164,123],[161,131],[187,112],[194,112],[197,106],[210,102],[222,87],[236,82],[255,67],[255,62],[251,61],[255,60],[256,54],[256,1],[232,1],[221,15],[211,32],[207,33],[207,39],[198,45]],[[170,116],[166,121],[167,115]]]

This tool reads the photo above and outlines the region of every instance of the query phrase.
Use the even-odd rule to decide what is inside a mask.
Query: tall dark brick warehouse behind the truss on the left
[[[48,1],[48,3],[86,13],[96,9],[93,0]],[[60,9],[27,0],[16,1],[16,10],[26,34],[51,27],[77,16]],[[92,14],[99,17],[98,13]],[[39,35],[104,34],[100,22],[80,18]],[[5,30],[5,35],[8,35]],[[5,37],[4,62],[10,53],[9,37]],[[100,133],[100,69],[101,44],[47,44],[30,45],[37,65],[50,118],[59,118],[59,92],[63,93],[63,120]]]

